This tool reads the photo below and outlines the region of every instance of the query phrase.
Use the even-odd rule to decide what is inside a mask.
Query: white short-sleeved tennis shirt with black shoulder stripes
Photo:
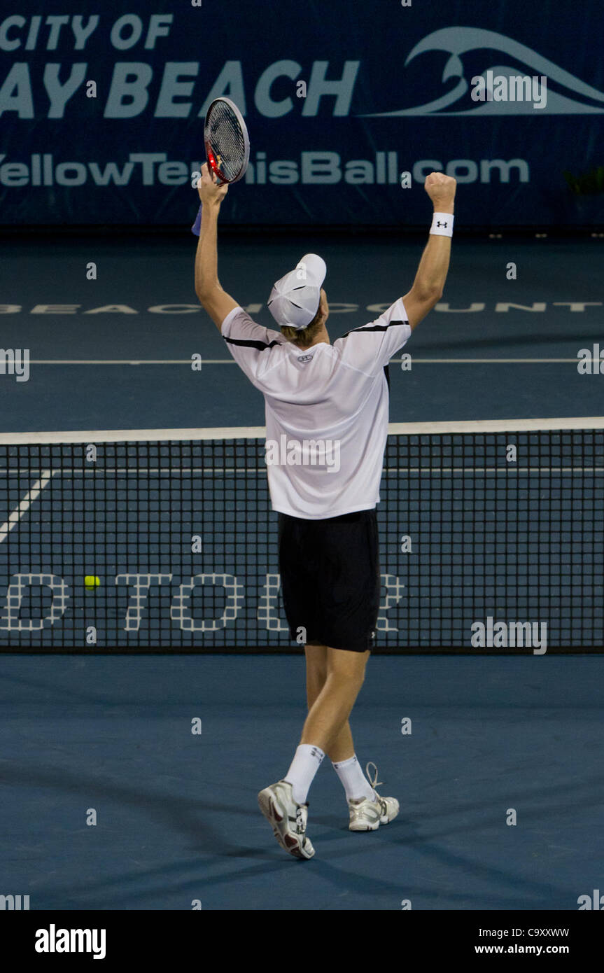
[[[221,332],[265,396],[273,509],[311,521],[373,509],[388,435],[386,366],[411,335],[402,300],[333,344],[304,350],[242,307]]]

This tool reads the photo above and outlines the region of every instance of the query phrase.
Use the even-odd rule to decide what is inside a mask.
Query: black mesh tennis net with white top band
[[[376,652],[602,649],[604,419],[391,425],[378,524]],[[264,429],[0,435],[0,649],[300,651]]]

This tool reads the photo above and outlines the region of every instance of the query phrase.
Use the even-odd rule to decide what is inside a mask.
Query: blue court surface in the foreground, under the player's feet
[[[256,794],[289,766],[302,658],[4,658],[3,883],[37,910],[576,910],[604,856],[600,667],[373,658],[351,725],[401,812],[349,832],[326,758],[301,862]]]

